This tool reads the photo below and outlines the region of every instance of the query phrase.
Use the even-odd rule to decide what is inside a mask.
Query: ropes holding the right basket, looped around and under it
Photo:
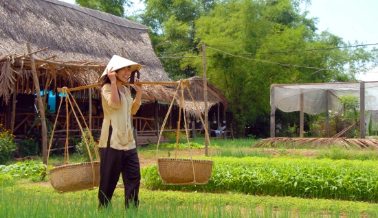
[[[173,100],[170,103],[170,107],[168,109],[168,112],[167,112],[166,117],[164,118],[164,121],[163,121],[163,124],[162,124],[162,131],[160,131],[159,138],[157,140],[156,160],[157,160],[157,167],[158,168],[159,168],[159,143],[160,143],[160,138],[162,138],[162,134],[163,134],[164,127],[166,125],[166,121],[168,120],[168,116],[170,114],[170,110],[172,109],[173,102],[175,101],[175,97],[176,97],[176,95],[177,95],[178,90],[179,90],[180,87],[181,87],[181,97],[180,97],[180,104],[179,104],[179,121],[178,121],[178,123],[180,123],[180,121],[181,121],[181,108],[184,107],[184,90],[185,90],[185,87],[187,88],[187,90],[188,90],[188,92],[190,94],[190,90],[188,88],[188,85],[184,84],[183,80],[181,79],[180,82],[179,82],[179,85],[177,86],[175,95],[173,95]],[[194,106],[195,106],[198,114],[199,114],[199,117],[201,119],[201,122],[202,122],[203,126],[205,126],[205,123],[203,122],[203,119],[201,117],[201,113],[199,112],[197,104],[195,103],[195,101],[194,101],[194,99],[193,99],[193,97],[192,97],[191,94],[190,94],[190,97],[192,98],[192,101],[194,103]],[[194,170],[195,167],[194,167],[194,161],[193,161],[193,158],[192,158],[192,151],[190,150],[190,142],[189,142],[189,136],[188,136],[188,127],[187,127],[187,123],[186,123],[186,112],[185,112],[185,110],[183,111],[183,113],[184,113],[184,116],[183,116],[184,117],[184,126],[185,126],[185,131],[186,131],[186,140],[188,142],[188,149],[189,149],[189,154],[190,154],[190,162],[192,164],[193,180],[192,180],[192,182],[184,182],[184,183],[168,183],[168,182],[166,182],[166,181],[164,181],[162,179],[162,182],[163,182],[163,184],[205,184],[207,181],[206,182],[201,182],[201,183],[198,183],[196,181],[196,173],[195,173],[195,170]],[[208,142],[209,142],[209,145],[210,145],[210,136],[209,136],[208,130],[206,128],[205,128],[205,137],[208,138]],[[178,143],[179,143],[179,125],[177,125],[177,136],[176,136],[176,145],[175,145],[175,147],[176,147],[176,149],[175,149],[175,158],[177,158]],[[211,147],[211,145],[210,145],[210,147]],[[211,157],[211,152],[210,152],[210,157]],[[161,160],[169,160],[169,159],[170,158],[161,158]],[[178,161],[187,161],[187,160],[178,159]],[[162,173],[160,172],[159,169],[158,169],[158,173],[159,173],[160,178],[162,178]],[[210,171],[210,173],[211,173],[211,171]]]

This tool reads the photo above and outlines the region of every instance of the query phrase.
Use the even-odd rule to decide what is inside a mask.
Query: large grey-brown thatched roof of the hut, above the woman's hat
[[[41,88],[48,74],[58,87],[58,80],[69,88],[88,84],[85,64],[96,82],[114,54],[142,64],[142,80],[169,80],[148,29],[118,16],[56,0],[0,0],[0,28],[0,97],[6,100],[15,80],[18,93],[34,92],[26,87],[31,73],[25,43],[32,51],[49,47],[34,56]]]

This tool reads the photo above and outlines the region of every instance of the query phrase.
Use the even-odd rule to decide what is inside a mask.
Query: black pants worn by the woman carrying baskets
[[[108,206],[111,202],[121,173],[124,181],[125,206],[129,208],[129,202],[137,206],[140,186],[140,162],[137,149],[128,151],[113,149],[110,147],[111,132],[110,127],[107,147],[100,147],[99,206]]]

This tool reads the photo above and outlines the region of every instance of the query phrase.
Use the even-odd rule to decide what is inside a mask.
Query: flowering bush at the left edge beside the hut
[[[14,157],[14,152],[18,149],[16,143],[14,143],[14,137],[9,130],[6,130],[0,124],[0,165]]]

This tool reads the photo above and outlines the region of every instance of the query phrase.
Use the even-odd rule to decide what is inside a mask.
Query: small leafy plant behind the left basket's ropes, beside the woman
[[[89,152],[91,152],[92,160],[96,160],[96,153],[95,151],[98,150],[98,141],[92,141],[91,135],[89,134],[88,130],[85,130],[84,134],[81,136],[81,141],[76,145],[76,151],[78,154],[82,157],[82,161],[89,162],[91,161],[91,158],[88,153],[89,146]]]

